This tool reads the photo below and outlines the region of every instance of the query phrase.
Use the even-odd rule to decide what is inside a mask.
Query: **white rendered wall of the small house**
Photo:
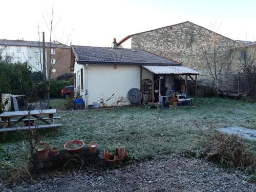
[[[116,106],[118,100],[124,100],[118,105],[130,104],[127,98],[128,92],[137,88],[140,89],[140,66],[127,65],[78,65],[75,62],[74,73],[76,73],[76,86],[78,87],[78,75],[83,69],[83,90],[80,94],[84,102],[86,90],[88,90],[88,105],[93,102],[100,102],[103,99],[108,106]],[[86,72],[87,71],[87,72]],[[87,75],[86,75],[87,74]],[[108,100],[114,94],[113,98]]]

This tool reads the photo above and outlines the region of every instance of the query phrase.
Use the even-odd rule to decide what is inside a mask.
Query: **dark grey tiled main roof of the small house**
[[[134,65],[173,65],[181,62],[140,49],[71,46],[78,63],[116,63]]]

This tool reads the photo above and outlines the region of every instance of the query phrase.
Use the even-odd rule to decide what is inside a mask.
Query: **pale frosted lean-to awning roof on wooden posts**
[[[199,75],[194,70],[184,66],[142,66],[154,74],[173,74],[173,75]]]

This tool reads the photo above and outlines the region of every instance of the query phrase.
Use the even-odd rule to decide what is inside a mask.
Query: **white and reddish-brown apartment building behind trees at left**
[[[27,62],[33,72],[42,71],[42,42],[0,39],[2,57],[10,63]],[[51,54],[50,54],[51,53]],[[52,78],[70,72],[71,49],[59,42],[46,42],[46,70]],[[52,65],[51,65],[52,64]]]

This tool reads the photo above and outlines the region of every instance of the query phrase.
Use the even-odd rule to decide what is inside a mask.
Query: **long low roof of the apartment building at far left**
[[[4,46],[27,46],[27,47],[42,47],[42,42],[39,41],[29,41],[29,40],[8,40],[8,39],[0,39],[0,45]],[[50,47],[50,42],[46,42],[46,47]],[[61,44],[52,43],[52,48],[59,48],[59,49],[70,49],[70,46],[66,46]]]

